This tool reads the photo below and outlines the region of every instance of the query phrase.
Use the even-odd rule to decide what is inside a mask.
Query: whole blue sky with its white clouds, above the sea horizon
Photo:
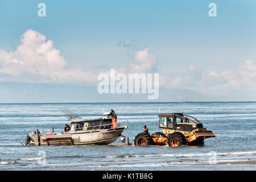
[[[38,16],[39,3],[46,5],[46,16]],[[216,4],[216,17],[208,14],[210,3]],[[98,101],[94,94],[88,99],[68,93],[79,92],[79,86],[97,88],[97,76],[110,69],[159,73],[159,92],[170,90],[166,96],[186,90],[175,95],[183,99],[166,101],[256,101],[255,5],[253,0],[2,0],[0,102]],[[65,93],[64,85],[70,85]],[[24,88],[27,97],[18,91]],[[32,97],[35,92],[44,99]]]

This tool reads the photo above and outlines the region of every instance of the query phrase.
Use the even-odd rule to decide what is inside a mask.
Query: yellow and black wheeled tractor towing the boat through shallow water
[[[191,115],[183,113],[159,114],[159,128],[163,133],[139,133],[134,144],[137,146],[166,145],[178,147],[181,145],[203,145],[205,138],[216,137],[212,131],[207,131],[203,124]]]

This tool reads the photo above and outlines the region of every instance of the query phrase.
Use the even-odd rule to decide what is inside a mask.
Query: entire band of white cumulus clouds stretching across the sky
[[[127,49],[129,67],[115,69],[116,74],[158,72],[159,61],[150,49],[135,41],[119,42],[118,46]],[[54,42],[34,30],[24,32],[15,51],[0,49],[2,82],[97,84],[97,76],[100,73],[110,75],[110,70],[102,67],[89,71],[69,68],[68,62]],[[185,88],[218,95],[255,94],[256,63],[253,60],[241,61],[221,72],[205,72],[191,64],[177,77],[160,74],[159,84],[169,88]]]

